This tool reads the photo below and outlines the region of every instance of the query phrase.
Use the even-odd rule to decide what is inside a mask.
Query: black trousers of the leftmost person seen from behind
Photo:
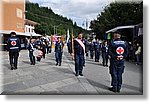
[[[9,61],[11,67],[17,68],[19,51],[9,51]]]

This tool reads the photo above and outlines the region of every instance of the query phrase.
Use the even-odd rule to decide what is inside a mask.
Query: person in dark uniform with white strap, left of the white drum
[[[34,50],[35,50],[34,47],[35,47],[35,45],[34,45],[34,40],[31,39],[31,40],[30,40],[30,43],[29,43],[29,47],[28,47],[31,65],[35,65],[35,56],[34,56],[34,54],[33,54],[33,52],[34,52]]]

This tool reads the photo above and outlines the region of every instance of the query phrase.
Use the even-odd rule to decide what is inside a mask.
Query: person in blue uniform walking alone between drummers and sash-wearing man
[[[58,41],[56,42],[56,45],[55,45],[56,66],[58,64],[59,66],[61,66],[63,47],[64,47],[64,44],[61,41],[61,38],[58,37]]]

